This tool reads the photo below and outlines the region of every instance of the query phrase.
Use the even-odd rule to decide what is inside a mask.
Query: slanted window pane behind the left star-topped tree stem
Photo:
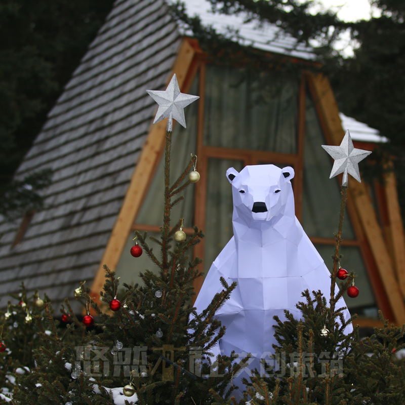
[[[192,95],[198,95],[198,80],[194,80],[190,91]],[[190,153],[195,154],[195,142],[197,137],[197,111],[198,100],[191,103],[184,109],[187,128],[183,128],[176,123],[172,134],[172,150],[170,165],[170,181],[176,181],[182,171],[190,161]],[[164,178],[165,156],[160,159],[159,166],[149,186],[148,193],[142,204],[142,208],[136,218],[137,224],[163,225],[164,209]],[[180,201],[172,210],[172,225],[180,218],[184,218],[184,226],[192,227],[194,225],[194,188],[193,185],[186,188],[183,192],[184,200]]]

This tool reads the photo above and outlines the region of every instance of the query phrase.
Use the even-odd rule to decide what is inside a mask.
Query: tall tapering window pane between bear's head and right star
[[[302,226],[308,236],[333,238],[339,225],[340,187],[337,178],[329,179],[332,160],[321,148],[325,143],[315,107],[307,97]],[[343,237],[355,238],[347,212],[343,222]]]

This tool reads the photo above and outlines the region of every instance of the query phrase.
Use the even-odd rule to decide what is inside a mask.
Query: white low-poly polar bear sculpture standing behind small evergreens
[[[197,313],[207,308],[223,290],[220,276],[228,284],[237,281],[217,311],[226,333],[216,352],[252,353],[249,369],[260,371],[260,359],[268,361],[276,343],[273,316],[284,320],[288,309],[301,318],[296,304],[306,289],[320,290],[329,300],[330,272],[295,216],[293,168],[247,166],[240,173],[230,168],[226,176],[232,185],[234,236],[213,262],[194,305]],[[341,298],[336,308],[344,306]],[[344,316],[350,318],[347,309]],[[350,325],[345,332],[351,331]]]

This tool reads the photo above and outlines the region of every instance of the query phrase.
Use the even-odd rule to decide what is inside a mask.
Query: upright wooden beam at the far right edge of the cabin
[[[396,276],[399,281],[399,288],[402,292],[402,298],[405,298],[405,235],[398,202],[396,178],[393,172],[387,173],[385,176],[384,191],[386,212],[389,221],[387,233],[390,236],[390,251]]]

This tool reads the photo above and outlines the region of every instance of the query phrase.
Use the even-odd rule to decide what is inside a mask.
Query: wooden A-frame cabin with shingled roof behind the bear
[[[240,23],[209,14],[201,0],[186,4],[219,30]],[[312,63],[310,49],[272,26],[248,25],[239,36],[262,52]],[[226,169],[272,163],[294,167],[297,216],[331,267],[340,196],[320,145],[340,144],[346,129],[359,148],[384,140],[339,115],[321,74],[269,69],[249,75],[217,65],[182,32],[164,0],[117,0],[17,171],[23,177],[52,168],[54,176],[44,211],[0,224],[0,306],[21,281],[57,306],[65,297],[75,303],[79,281],[87,280],[97,296],[104,263],[128,282],[153,270],[144,257],[129,254],[132,231],[157,232],[162,215],[166,122],[151,125],[156,105],[145,90],[164,89],[173,73],[183,93],[200,96],[186,109],[187,129],[175,126],[173,133],[173,175],[190,153],[198,156],[201,175],[173,214],[184,218],[186,233],[194,224],[206,232],[190,254],[203,257],[208,271],[231,236]],[[358,274],[360,295],[346,300],[359,314],[356,322],[377,325],[381,309],[390,321],[405,323],[405,241],[393,174],[383,185],[349,180],[343,236],[342,267]]]

